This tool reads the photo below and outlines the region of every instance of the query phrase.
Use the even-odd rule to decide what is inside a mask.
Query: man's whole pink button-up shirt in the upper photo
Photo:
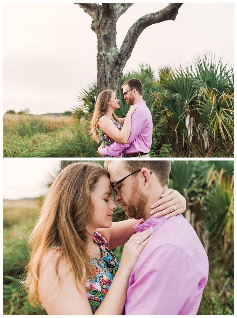
[[[141,106],[136,109],[131,117],[131,134],[126,143],[114,142],[112,145],[102,149],[103,156],[117,156],[124,150],[126,154],[144,152],[148,154],[152,142],[152,116],[150,109],[142,100],[132,106]]]

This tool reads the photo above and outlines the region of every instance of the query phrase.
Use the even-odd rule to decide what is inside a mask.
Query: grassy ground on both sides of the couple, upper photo
[[[72,116],[54,115],[3,115],[3,157],[58,157],[101,158],[97,153],[99,144],[89,135],[90,127],[85,120]],[[183,143],[176,144],[172,132],[171,144],[161,142],[154,128],[150,157],[232,157],[233,145],[209,141],[209,149],[203,153],[198,144],[187,150]],[[172,141],[172,142],[171,142]]]

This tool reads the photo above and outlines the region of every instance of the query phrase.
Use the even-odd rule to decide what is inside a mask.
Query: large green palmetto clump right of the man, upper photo
[[[176,144],[198,145],[204,154],[210,140],[233,144],[233,69],[223,66],[221,59],[216,64],[211,54],[204,55],[195,60],[195,66],[160,70],[158,83],[153,101],[156,125],[164,135],[172,138],[173,131]]]

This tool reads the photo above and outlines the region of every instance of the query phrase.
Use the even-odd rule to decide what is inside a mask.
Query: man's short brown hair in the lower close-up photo
[[[148,161],[125,161],[125,167],[128,171],[133,172],[138,169],[146,168],[151,170],[159,180],[161,186],[169,185],[171,162],[168,160],[148,160]]]

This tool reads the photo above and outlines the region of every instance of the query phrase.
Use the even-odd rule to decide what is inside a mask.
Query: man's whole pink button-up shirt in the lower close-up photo
[[[181,215],[151,216],[134,228],[155,230],[129,279],[125,315],[195,315],[208,280],[208,257]]]

